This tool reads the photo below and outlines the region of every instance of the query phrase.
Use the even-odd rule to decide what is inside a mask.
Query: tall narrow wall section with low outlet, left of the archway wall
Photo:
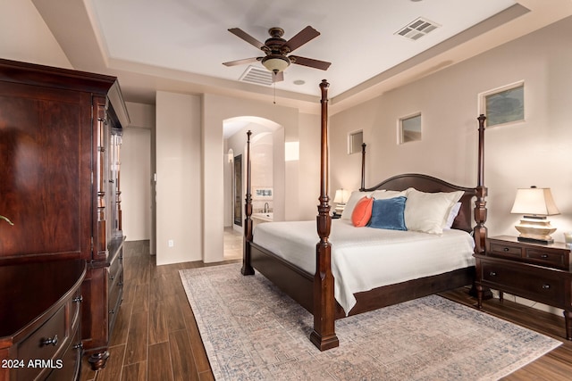
[[[197,95],[156,93],[158,265],[202,259],[200,107]]]

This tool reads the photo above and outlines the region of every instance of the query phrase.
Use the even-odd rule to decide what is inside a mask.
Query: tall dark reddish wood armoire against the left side
[[[128,123],[114,77],[0,60],[0,215],[14,224],[0,220],[0,266],[87,262],[80,335],[94,369],[122,301]]]

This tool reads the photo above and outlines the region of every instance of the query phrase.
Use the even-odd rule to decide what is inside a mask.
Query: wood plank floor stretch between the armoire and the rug
[[[179,277],[180,269],[208,265],[156,266],[148,241],[137,241],[124,244],[123,266],[123,302],[111,338],[111,357],[97,372],[84,358],[80,380],[214,379]]]

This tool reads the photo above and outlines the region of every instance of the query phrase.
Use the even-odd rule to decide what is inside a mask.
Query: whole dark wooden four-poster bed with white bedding
[[[456,216],[450,216],[450,219],[454,217],[450,229],[437,232],[439,234],[428,234],[383,228],[355,228],[352,221],[344,219],[343,215],[342,219],[332,221],[328,196],[328,86],[325,80],[320,84],[322,142],[321,189],[316,217],[317,237],[314,228],[310,229],[308,226],[311,221],[261,224],[257,226],[255,237],[251,220],[251,133],[248,131],[246,219],[241,269],[243,275],[252,275],[254,269],[257,269],[314,315],[314,329],[310,340],[321,351],[339,345],[335,334],[335,319],[471,285],[475,275],[472,254],[484,253],[486,237],[484,115],[478,118],[477,186],[471,188],[455,186],[441,179],[420,174],[395,176],[377,186],[366,188],[366,146],[363,145],[361,194],[357,196],[377,198],[375,195],[410,195],[410,199],[413,200],[414,195],[411,192],[416,192],[415,196],[419,196],[418,200],[423,202],[423,197],[427,194],[455,193],[458,196],[455,200],[459,209]],[[410,188],[415,189],[410,190]],[[374,194],[375,191],[378,193]],[[398,194],[391,191],[402,192]],[[472,216],[475,223],[472,223]],[[455,237],[452,238],[453,236]],[[354,241],[352,244],[351,239],[361,239],[361,241],[357,243]],[[449,240],[456,240],[457,244],[449,244]],[[443,248],[439,244],[433,247],[433,243],[428,241],[445,242],[445,246],[450,248]],[[470,241],[470,244],[467,244],[467,241]],[[386,246],[379,246],[380,243],[385,243]],[[404,244],[409,246],[400,249]],[[433,249],[430,249],[431,247]],[[380,253],[388,251],[399,255],[392,257],[386,255],[375,259],[381,256]],[[463,252],[462,256],[455,256],[458,251]],[[299,258],[292,260],[290,254],[286,252]],[[445,252],[450,252],[453,256],[442,257],[442,253]],[[395,257],[403,258],[404,261],[395,261]],[[293,261],[296,261],[296,264]],[[375,267],[375,261],[381,264]],[[436,265],[437,262],[441,265]],[[416,274],[420,268],[426,268],[425,272]],[[352,274],[346,270],[362,272]],[[339,278],[346,279],[346,283],[339,282]]]

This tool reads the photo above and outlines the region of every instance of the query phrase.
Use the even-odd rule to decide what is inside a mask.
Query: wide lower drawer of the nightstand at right
[[[556,271],[539,271],[526,266],[482,263],[482,283],[510,294],[563,308],[566,277]]]

